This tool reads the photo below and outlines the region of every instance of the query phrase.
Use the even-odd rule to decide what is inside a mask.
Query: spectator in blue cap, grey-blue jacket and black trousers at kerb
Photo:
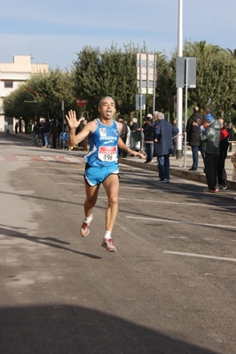
[[[219,192],[217,184],[217,161],[219,156],[221,123],[204,117],[200,126],[200,141],[205,143],[205,173],[207,177],[208,188],[204,189],[206,193]]]

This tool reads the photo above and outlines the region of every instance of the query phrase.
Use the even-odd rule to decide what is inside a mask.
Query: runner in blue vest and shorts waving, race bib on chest
[[[109,96],[102,98],[98,105],[98,112],[100,113],[100,118],[88,122],[77,135],[75,135],[75,130],[82,118],[77,121],[76,113],[73,110],[70,110],[68,115],[66,115],[70,128],[69,145],[75,146],[87,136],[90,142],[90,152],[84,157],[86,162],[84,173],[86,199],[83,205],[85,218],[80,232],[83,237],[88,236],[90,232],[90,222],[93,218],[92,210],[98,199],[99,186],[102,184],[106,190],[108,200],[106,231],[102,246],[109,252],[116,252],[112,231],[118,213],[118,148],[143,159],[146,159],[146,156],[131,150],[122,142],[120,138],[122,123],[114,121],[116,109],[113,98]]]

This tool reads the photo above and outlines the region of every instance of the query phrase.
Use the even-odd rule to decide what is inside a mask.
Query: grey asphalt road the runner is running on
[[[0,134],[0,352],[235,353],[235,193],[121,165],[109,253],[102,186],[79,235],[83,167]]]

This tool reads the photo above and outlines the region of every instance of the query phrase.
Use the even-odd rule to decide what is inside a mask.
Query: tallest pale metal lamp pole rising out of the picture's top
[[[183,0],[178,0],[177,56],[183,57]],[[177,88],[177,159],[182,157],[183,89]]]

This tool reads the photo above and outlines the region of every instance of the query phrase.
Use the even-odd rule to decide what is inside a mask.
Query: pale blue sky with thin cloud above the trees
[[[31,55],[32,64],[70,69],[84,46],[133,44],[171,58],[180,0],[1,0],[0,62]],[[183,42],[236,49],[235,0],[183,0]]]

